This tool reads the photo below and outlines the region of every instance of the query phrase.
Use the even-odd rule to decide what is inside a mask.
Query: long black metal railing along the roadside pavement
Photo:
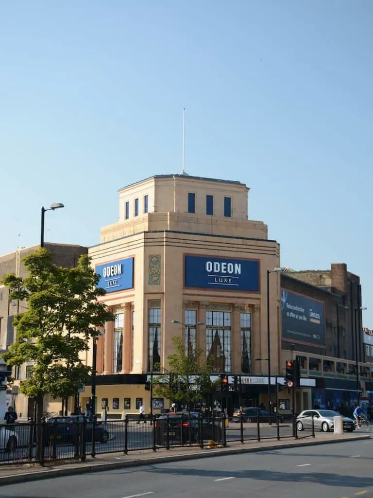
[[[61,419],[60,419],[61,420]],[[227,446],[231,442],[315,437],[315,424],[299,417],[283,421],[279,415],[247,419],[244,415],[209,417],[195,413],[154,416],[152,420],[97,421],[82,417],[42,420],[0,426],[0,465],[56,460],[86,460],[88,455],[167,449]],[[152,423],[150,423],[152,422]]]

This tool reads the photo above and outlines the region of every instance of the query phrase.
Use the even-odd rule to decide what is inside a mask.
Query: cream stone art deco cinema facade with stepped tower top
[[[248,192],[240,182],[188,175],[119,190],[119,221],[89,249],[107,290],[103,301],[116,314],[97,341],[98,411],[103,399],[109,413],[136,412],[142,399],[149,412],[147,375],[157,362],[167,368],[176,335],[186,350],[213,354],[217,374],[268,375],[267,269],[280,266],[280,247],[263,222],[248,219]],[[271,273],[273,375],[280,371],[279,305],[280,277]],[[87,386],[82,405],[90,394]],[[153,402],[154,412],[160,407]]]

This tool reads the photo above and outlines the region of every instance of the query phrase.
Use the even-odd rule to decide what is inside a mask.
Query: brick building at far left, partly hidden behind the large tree
[[[37,249],[39,245],[27,248],[18,248],[8,254],[0,256],[0,280],[8,273],[15,273],[17,276],[26,276],[22,259]],[[45,244],[45,248],[52,253],[53,262],[59,266],[73,268],[78,262],[81,254],[87,254],[88,248],[82,246],[73,246],[67,244]],[[26,302],[9,301],[8,289],[0,285],[0,350],[6,350],[15,340],[15,331],[13,328],[14,315],[22,313],[26,309]],[[20,381],[27,378],[28,365],[22,365],[13,369],[12,377]],[[15,382],[17,383],[17,382]],[[19,382],[18,382],[19,383]],[[17,390],[14,390],[17,392]],[[8,393],[9,395],[9,393]],[[29,411],[30,403],[23,394],[14,394],[12,404],[16,406],[18,413],[26,416]]]

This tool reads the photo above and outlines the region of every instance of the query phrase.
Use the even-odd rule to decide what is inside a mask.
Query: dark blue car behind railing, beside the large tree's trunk
[[[46,442],[53,441],[54,435],[59,444],[73,444],[77,440],[77,433],[82,430],[82,425],[86,421],[86,441],[92,441],[93,422],[84,415],[69,415],[66,417],[52,417],[48,420]],[[55,424],[57,427],[55,428]],[[94,440],[100,443],[107,443],[109,432],[100,423],[94,424]]]

